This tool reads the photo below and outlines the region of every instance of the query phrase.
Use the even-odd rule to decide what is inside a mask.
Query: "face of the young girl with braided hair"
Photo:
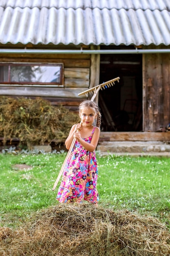
[[[82,108],[79,114],[84,126],[91,126],[96,118],[96,113],[93,108]]]

